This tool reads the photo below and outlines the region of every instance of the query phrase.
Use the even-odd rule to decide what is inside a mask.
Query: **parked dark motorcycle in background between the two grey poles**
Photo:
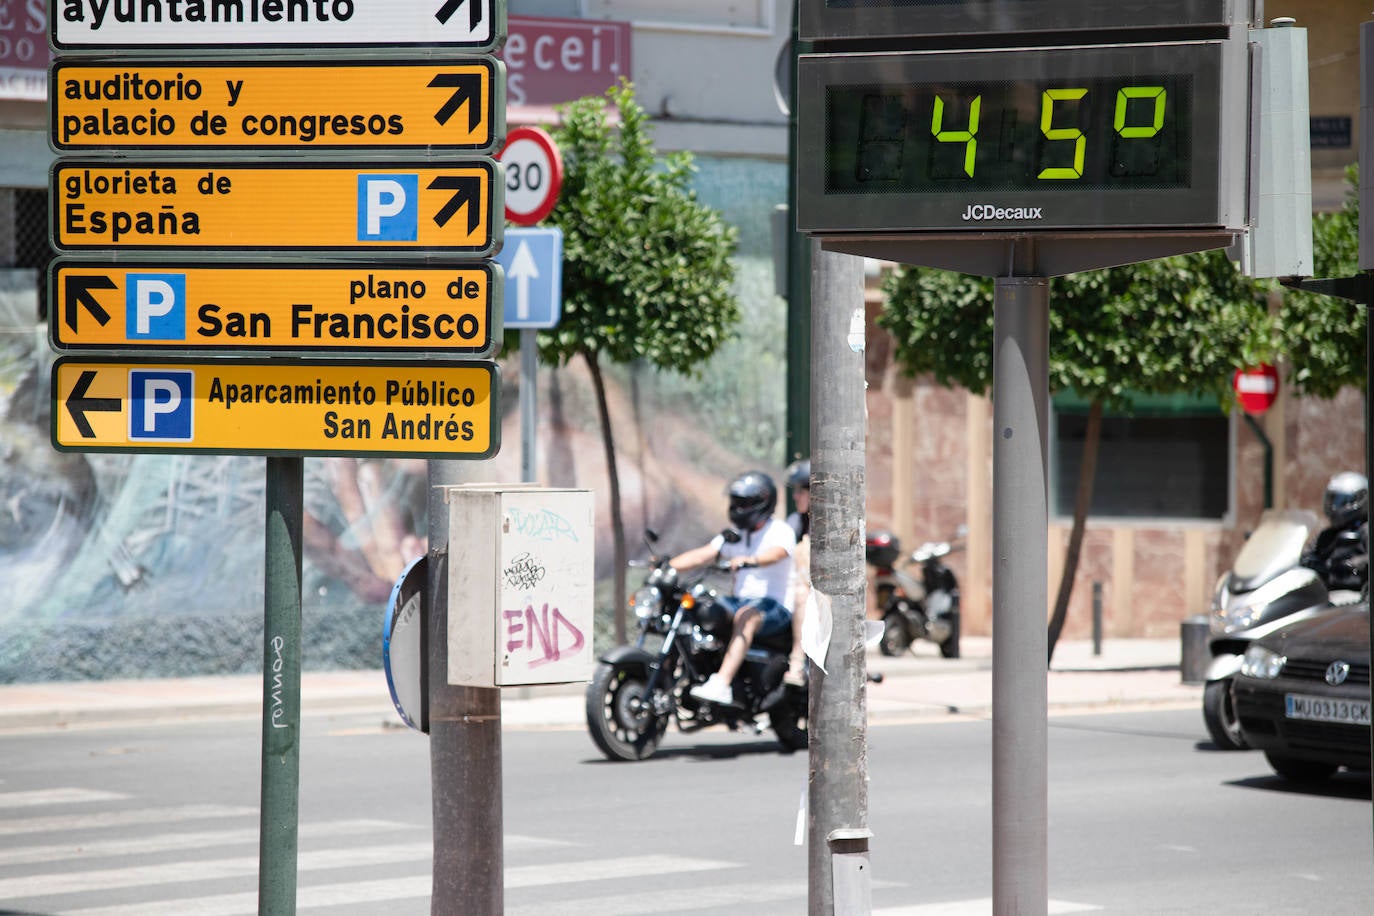
[[[890,531],[872,531],[864,538],[864,560],[874,567],[878,608],[882,611],[882,639],[878,651],[901,655],[919,639],[940,647],[944,658],[959,658],[959,580],[944,563],[951,551],[963,545],[959,526],[954,540],[932,541],[912,551],[904,563],[901,542]],[[918,564],[918,580],[903,566]]]

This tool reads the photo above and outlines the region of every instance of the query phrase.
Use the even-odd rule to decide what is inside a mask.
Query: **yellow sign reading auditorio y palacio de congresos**
[[[56,60],[54,150],[451,148],[506,133],[495,58],[397,60]]]

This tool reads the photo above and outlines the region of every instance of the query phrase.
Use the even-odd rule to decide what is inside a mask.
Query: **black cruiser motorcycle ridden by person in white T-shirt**
[[[738,540],[734,530],[727,540]],[[658,536],[644,536],[653,552]],[[783,751],[807,747],[807,687],[783,683],[791,630],[754,637],[732,687],[735,706],[717,706],[691,695],[691,688],[713,674],[731,637],[731,615],[716,602],[716,592],[702,580],[727,571],[716,563],[694,577],[684,577],[666,556],[650,556],[649,574],[631,599],[639,625],[633,645],[617,645],[600,656],[587,685],[587,728],[609,759],[646,759],[671,724],[683,733],[709,725],[731,731],[763,732],[768,724]]]

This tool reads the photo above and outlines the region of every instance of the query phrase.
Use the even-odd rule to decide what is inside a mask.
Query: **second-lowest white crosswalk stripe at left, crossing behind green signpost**
[[[431,858],[430,845],[397,843],[392,846],[364,846],[360,849],[330,849],[297,856],[297,871],[326,868],[359,868],[363,865],[390,865],[396,862]],[[85,891],[146,887],[206,882],[221,878],[257,875],[258,858],[218,858],[207,861],[168,862],[162,865],[135,865],[89,872],[60,872],[55,875],[27,875],[0,879],[0,900],[22,897],[49,897],[52,894],[80,894]]]

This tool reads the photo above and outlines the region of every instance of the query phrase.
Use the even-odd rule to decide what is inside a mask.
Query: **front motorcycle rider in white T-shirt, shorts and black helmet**
[[[675,556],[672,566],[691,570],[728,560],[735,574],[732,593],[720,599],[732,614],[730,645],[720,670],[691,689],[697,699],[734,706],[731,684],[754,636],[771,636],[791,629],[793,551],[797,537],[786,522],[774,518],[778,488],[763,471],[747,471],[728,488],[730,523],[739,531],[735,542],[717,534],[709,544]]]

